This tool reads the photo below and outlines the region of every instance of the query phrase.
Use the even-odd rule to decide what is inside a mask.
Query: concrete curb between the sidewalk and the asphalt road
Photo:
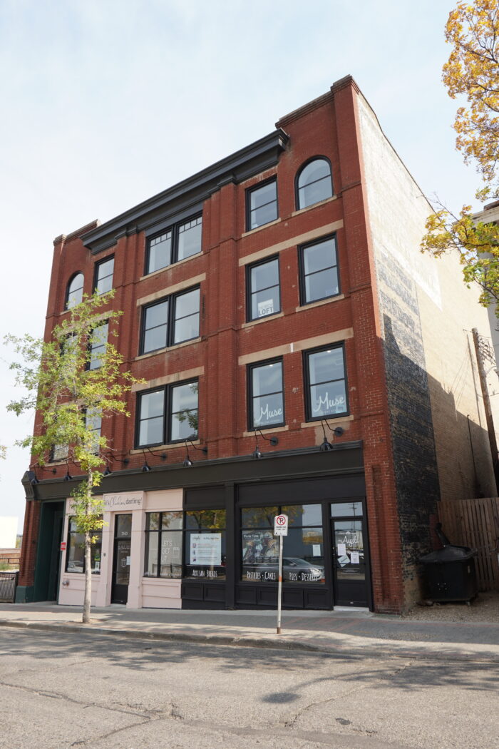
[[[376,646],[365,646],[363,648],[349,649],[343,651],[337,646],[331,645],[313,645],[304,643],[302,640],[270,640],[268,637],[232,637],[223,634],[192,634],[186,632],[162,632],[162,631],[137,631],[135,629],[113,629],[99,627],[94,625],[82,624],[58,624],[43,622],[5,622],[0,621],[0,627],[16,629],[36,629],[46,632],[65,632],[67,634],[91,634],[103,637],[120,637],[129,640],[147,640],[148,642],[179,642],[179,643],[197,643],[201,645],[218,645],[225,647],[246,647],[273,649],[284,651],[299,651],[309,653],[310,655],[329,655],[334,658],[343,658],[348,660],[361,660],[364,658],[411,658],[415,661],[453,661],[463,663],[498,663],[499,652],[489,652],[486,655],[475,654],[471,652],[420,652],[411,649],[392,649],[386,646],[386,640]],[[424,643],[428,644],[428,643]]]

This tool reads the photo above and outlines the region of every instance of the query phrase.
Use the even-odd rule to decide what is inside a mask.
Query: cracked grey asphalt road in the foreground
[[[0,630],[1,749],[498,749],[493,664]]]

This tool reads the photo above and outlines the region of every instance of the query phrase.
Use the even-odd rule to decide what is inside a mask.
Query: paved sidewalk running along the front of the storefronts
[[[357,611],[92,608],[82,625],[80,607],[0,604],[0,627],[36,628],[147,640],[183,640],[227,646],[284,648],[349,657],[391,655],[499,663],[499,622],[411,621]],[[1,630],[0,630],[1,633]]]

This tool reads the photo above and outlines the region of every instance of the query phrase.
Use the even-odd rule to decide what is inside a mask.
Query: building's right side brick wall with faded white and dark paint
[[[482,491],[494,484],[470,346],[471,328],[486,330],[486,311],[477,290],[465,288],[457,258],[421,255],[429,204],[363,97],[358,106],[410,600],[438,500],[474,496],[477,475]]]

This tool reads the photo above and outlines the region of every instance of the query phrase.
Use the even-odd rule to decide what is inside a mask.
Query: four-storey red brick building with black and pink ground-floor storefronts
[[[269,136],[55,240],[46,336],[112,286],[117,348],[145,380],[131,418],[96,422],[111,450],[94,604],[273,606],[278,512],[285,606],[396,613],[417,598],[438,499],[473,496],[477,461],[493,485],[473,377],[465,412],[446,385],[481,311],[451,261],[420,255],[428,210],[347,77]],[[79,604],[79,467],[53,457],[23,479],[18,601]]]

